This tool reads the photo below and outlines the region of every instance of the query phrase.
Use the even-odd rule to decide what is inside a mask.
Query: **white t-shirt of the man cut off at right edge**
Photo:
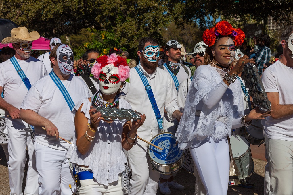
[[[292,78],[293,69],[282,64],[280,60],[265,69],[261,77],[265,92],[279,93],[280,105],[293,104]],[[265,134],[268,138],[293,141],[293,115],[280,119],[266,119]]]

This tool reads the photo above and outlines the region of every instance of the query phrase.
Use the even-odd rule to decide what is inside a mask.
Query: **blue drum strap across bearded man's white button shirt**
[[[140,67],[141,65],[139,64],[138,66]],[[153,94],[153,90],[151,89],[151,85],[149,85],[149,82],[147,81],[146,76],[144,76],[144,74],[142,73],[142,71],[139,69],[138,66],[135,66],[134,68],[137,71],[137,73],[139,74],[140,78],[142,79],[142,83],[144,84],[144,88],[147,91],[147,95],[149,96],[149,101],[151,102],[151,106],[152,106],[154,113],[156,115],[156,119],[157,119],[159,128],[160,128],[161,132],[164,132],[165,130],[163,129],[163,117],[161,117],[160,110],[158,108],[158,105],[156,103],[156,100],[155,100],[155,97]]]

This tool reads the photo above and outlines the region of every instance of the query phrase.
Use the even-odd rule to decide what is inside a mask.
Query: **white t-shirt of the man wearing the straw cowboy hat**
[[[31,85],[47,75],[45,66],[40,60],[33,57],[27,60],[15,59],[26,77],[28,77]],[[0,86],[4,89],[4,100],[19,109],[25,95],[28,93],[28,89],[10,60],[0,64]],[[7,115],[9,115],[8,111],[5,111],[5,116]]]

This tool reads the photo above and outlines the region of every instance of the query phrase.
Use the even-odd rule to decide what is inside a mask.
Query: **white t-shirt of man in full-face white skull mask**
[[[73,74],[67,81],[61,82],[75,104],[81,99],[89,98],[86,85]],[[33,110],[40,116],[50,120],[56,125],[59,136],[67,140],[70,140],[70,136],[74,136],[75,127],[71,119],[71,110],[50,75],[43,77],[32,86],[25,96],[21,108]],[[35,132],[34,141],[44,146],[57,150],[66,150],[70,146],[69,143],[61,139],[48,136],[41,126],[35,126]]]

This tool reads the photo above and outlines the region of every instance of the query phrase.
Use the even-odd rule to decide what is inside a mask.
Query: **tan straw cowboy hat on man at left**
[[[40,34],[37,31],[28,33],[28,29],[25,27],[13,28],[11,30],[11,37],[6,37],[2,40],[2,44],[6,43],[18,43],[25,41],[34,41],[40,38]]]

